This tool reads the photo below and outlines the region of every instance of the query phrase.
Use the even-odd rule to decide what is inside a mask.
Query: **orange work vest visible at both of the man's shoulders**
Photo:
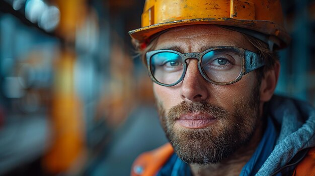
[[[141,154],[132,164],[131,176],[153,176],[168,161],[174,149],[167,143],[155,150]],[[306,156],[297,164],[292,176],[315,175],[315,147],[311,148]]]

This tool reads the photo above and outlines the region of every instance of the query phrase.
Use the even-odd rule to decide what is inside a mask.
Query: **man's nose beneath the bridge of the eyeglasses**
[[[208,82],[202,77],[198,69],[198,60],[189,59],[185,77],[181,84],[181,97],[185,101],[203,101],[209,96]]]

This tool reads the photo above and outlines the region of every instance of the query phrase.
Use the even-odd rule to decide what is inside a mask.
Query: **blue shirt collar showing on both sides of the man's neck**
[[[240,173],[241,176],[252,176],[257,173],[273,150],[277,137],[276,134],[276,128],[272,120],[267,118],[267,127],[263,138],[261,139],[251,159],[243,167]],[[156,175],[191,176],[192,173],[189,164],[182,161],[176,153],[174,153]]]

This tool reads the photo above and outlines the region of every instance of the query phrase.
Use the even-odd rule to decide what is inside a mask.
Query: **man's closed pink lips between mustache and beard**
[[[176,120],[176,123],[186,128],[204,128],[215,122],[209,114],[185,114]]]

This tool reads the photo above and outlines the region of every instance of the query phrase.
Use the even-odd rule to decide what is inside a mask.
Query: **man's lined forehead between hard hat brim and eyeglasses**
[[[244,35],[214,25],[191,25],[173,28],[156,41],[155,50],[177,48],[180,52],[202,52],[217,46],[233,46],[254,51]]]

